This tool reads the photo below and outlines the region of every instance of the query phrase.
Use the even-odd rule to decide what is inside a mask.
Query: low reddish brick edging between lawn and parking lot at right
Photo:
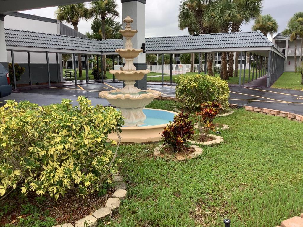
[[[269,115],[269,116],[284,117],[284,118],[287,118],[288,120],[303,123],[303,115],[299,115],[299,114],[295,114],[295,113],[289,113],[289,112],[284,112],[284,111],[280,111],[280,110],[258,108],[258,107],[250,107],[250,106],[245,106],[245,110],[255,112],[255,113],[261,113],[261,114]]]

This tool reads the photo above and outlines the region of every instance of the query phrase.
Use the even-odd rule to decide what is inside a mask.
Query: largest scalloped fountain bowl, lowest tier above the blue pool
[[[156,90],[139,90],[135,94],[124,94],[121,89],[101,91],[100,98],[105,98],[110,104],[118,108],[140,108],[152,102],[154,98],[160,97],[161,92]]]

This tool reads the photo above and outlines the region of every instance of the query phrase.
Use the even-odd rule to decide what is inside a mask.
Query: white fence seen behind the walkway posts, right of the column
[[[215,67],[220,67],[220,64],[215,64]],[[190,64],[187,65],[172,65],[172,74],[178,75],[178,74],[184,74],[190,72]],[[246,69],[248,69],[249,64],[246,64]],[[235,65],[233,65],[233,68],[235,69]],[[240,64],[238,64],[238,69],[240,70]],[[242,65],[242,70],[244,69],[244,64]],[[155,73],[162,73],[162,65],[147,65],[147,70]],[[204,71],[204,64],[201,67],[201,72]],[[195,64],[195,72],[198,72],[198,64]],[[164,65],[164,73],[170,74],[170,65]]]

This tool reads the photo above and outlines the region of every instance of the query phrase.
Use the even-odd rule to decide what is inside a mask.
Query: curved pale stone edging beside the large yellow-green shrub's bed
[[[119,172],[115,175],[114,182],[116,183],[116,191],[112,195],[112,198],[108,198],[104,207],[96,210],[92,215],[88,215],[85,218],[76,221],[75,225],[72,225],[72,223],[66,223],[54,225],[53,227],[93,227],[98,224],[99,219],[104,219],[106,217],[111,218],[112,213],[116,212],[121,204],[120,199],[125,199],[127,193],[126,184],[123,182],[123,176],[120,176]]]

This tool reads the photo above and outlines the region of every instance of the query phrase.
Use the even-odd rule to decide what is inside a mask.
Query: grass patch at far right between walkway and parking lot
[[[303,84],[301,84],[301,74],[295,72],[285,72],[273,85],[271,85],[271,87],[303,90]]]

